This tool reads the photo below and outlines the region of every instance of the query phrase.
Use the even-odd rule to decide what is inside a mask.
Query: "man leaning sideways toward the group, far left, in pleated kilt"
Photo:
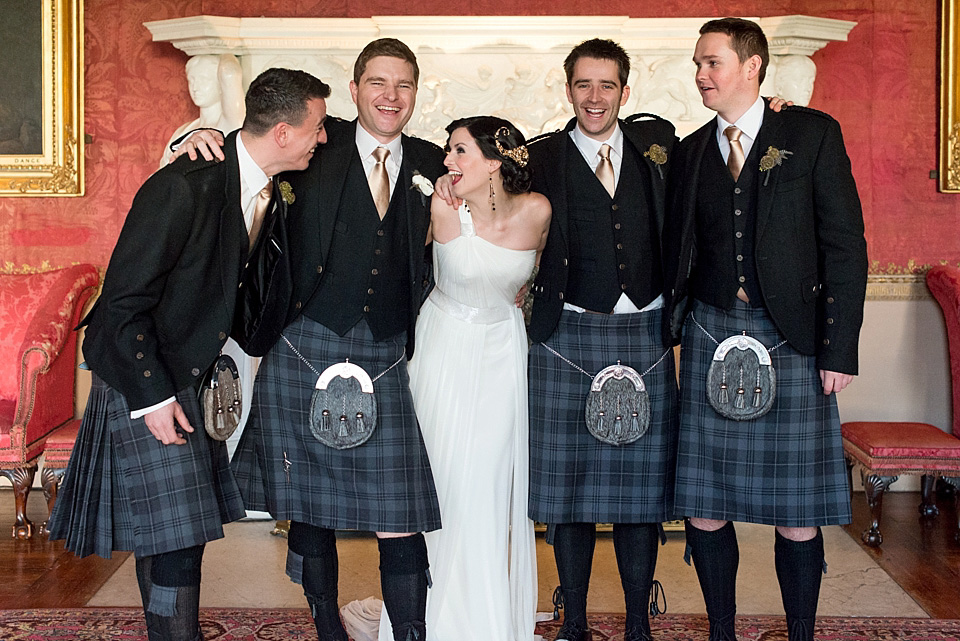
[[[137,192],[103,290],[81,326],[93,387],[51,538],[79,556],[133,550],[150,641],[194,641],[207,541],[243,517],[225,443],[197,388],[231,331],[240,274],[282,171],[326,140],[330,88],[268,69],[250,85],[224,162],[183,158]]]

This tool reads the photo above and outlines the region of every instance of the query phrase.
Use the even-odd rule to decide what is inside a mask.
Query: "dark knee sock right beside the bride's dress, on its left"
[[[380,588],[394,641],[426,638],[427,542],[423,534],[377,539]],[[386,641],[386,640],[384,640]]]

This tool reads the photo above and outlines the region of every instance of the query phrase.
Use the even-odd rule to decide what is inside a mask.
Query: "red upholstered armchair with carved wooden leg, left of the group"
[[[13,483],[18,539],[33,535],[26,503],[46,439],[73,418],[73,328],[99,281],[92,265],[0,274],[0,474]]]

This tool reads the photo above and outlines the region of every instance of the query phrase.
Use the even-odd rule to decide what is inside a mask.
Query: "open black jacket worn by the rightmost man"
[[[716,119],[684,138],[674,153],[667,222],[665,331],[679,340],[697,268],[695,237],[698,173],[716,145]],[[867,246],[863,214],[840,125],[825,113],[787,107],[764,111],[754,145],[790,151],[780,166],[761,173],[754,255],[763,304],[777,329],[817,368],[857,373],[863,322]]]

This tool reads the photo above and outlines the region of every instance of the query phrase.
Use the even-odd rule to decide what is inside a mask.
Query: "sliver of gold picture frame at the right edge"
[[[960,2],[941,2],[940,22],[940,191],[960,193]]]

